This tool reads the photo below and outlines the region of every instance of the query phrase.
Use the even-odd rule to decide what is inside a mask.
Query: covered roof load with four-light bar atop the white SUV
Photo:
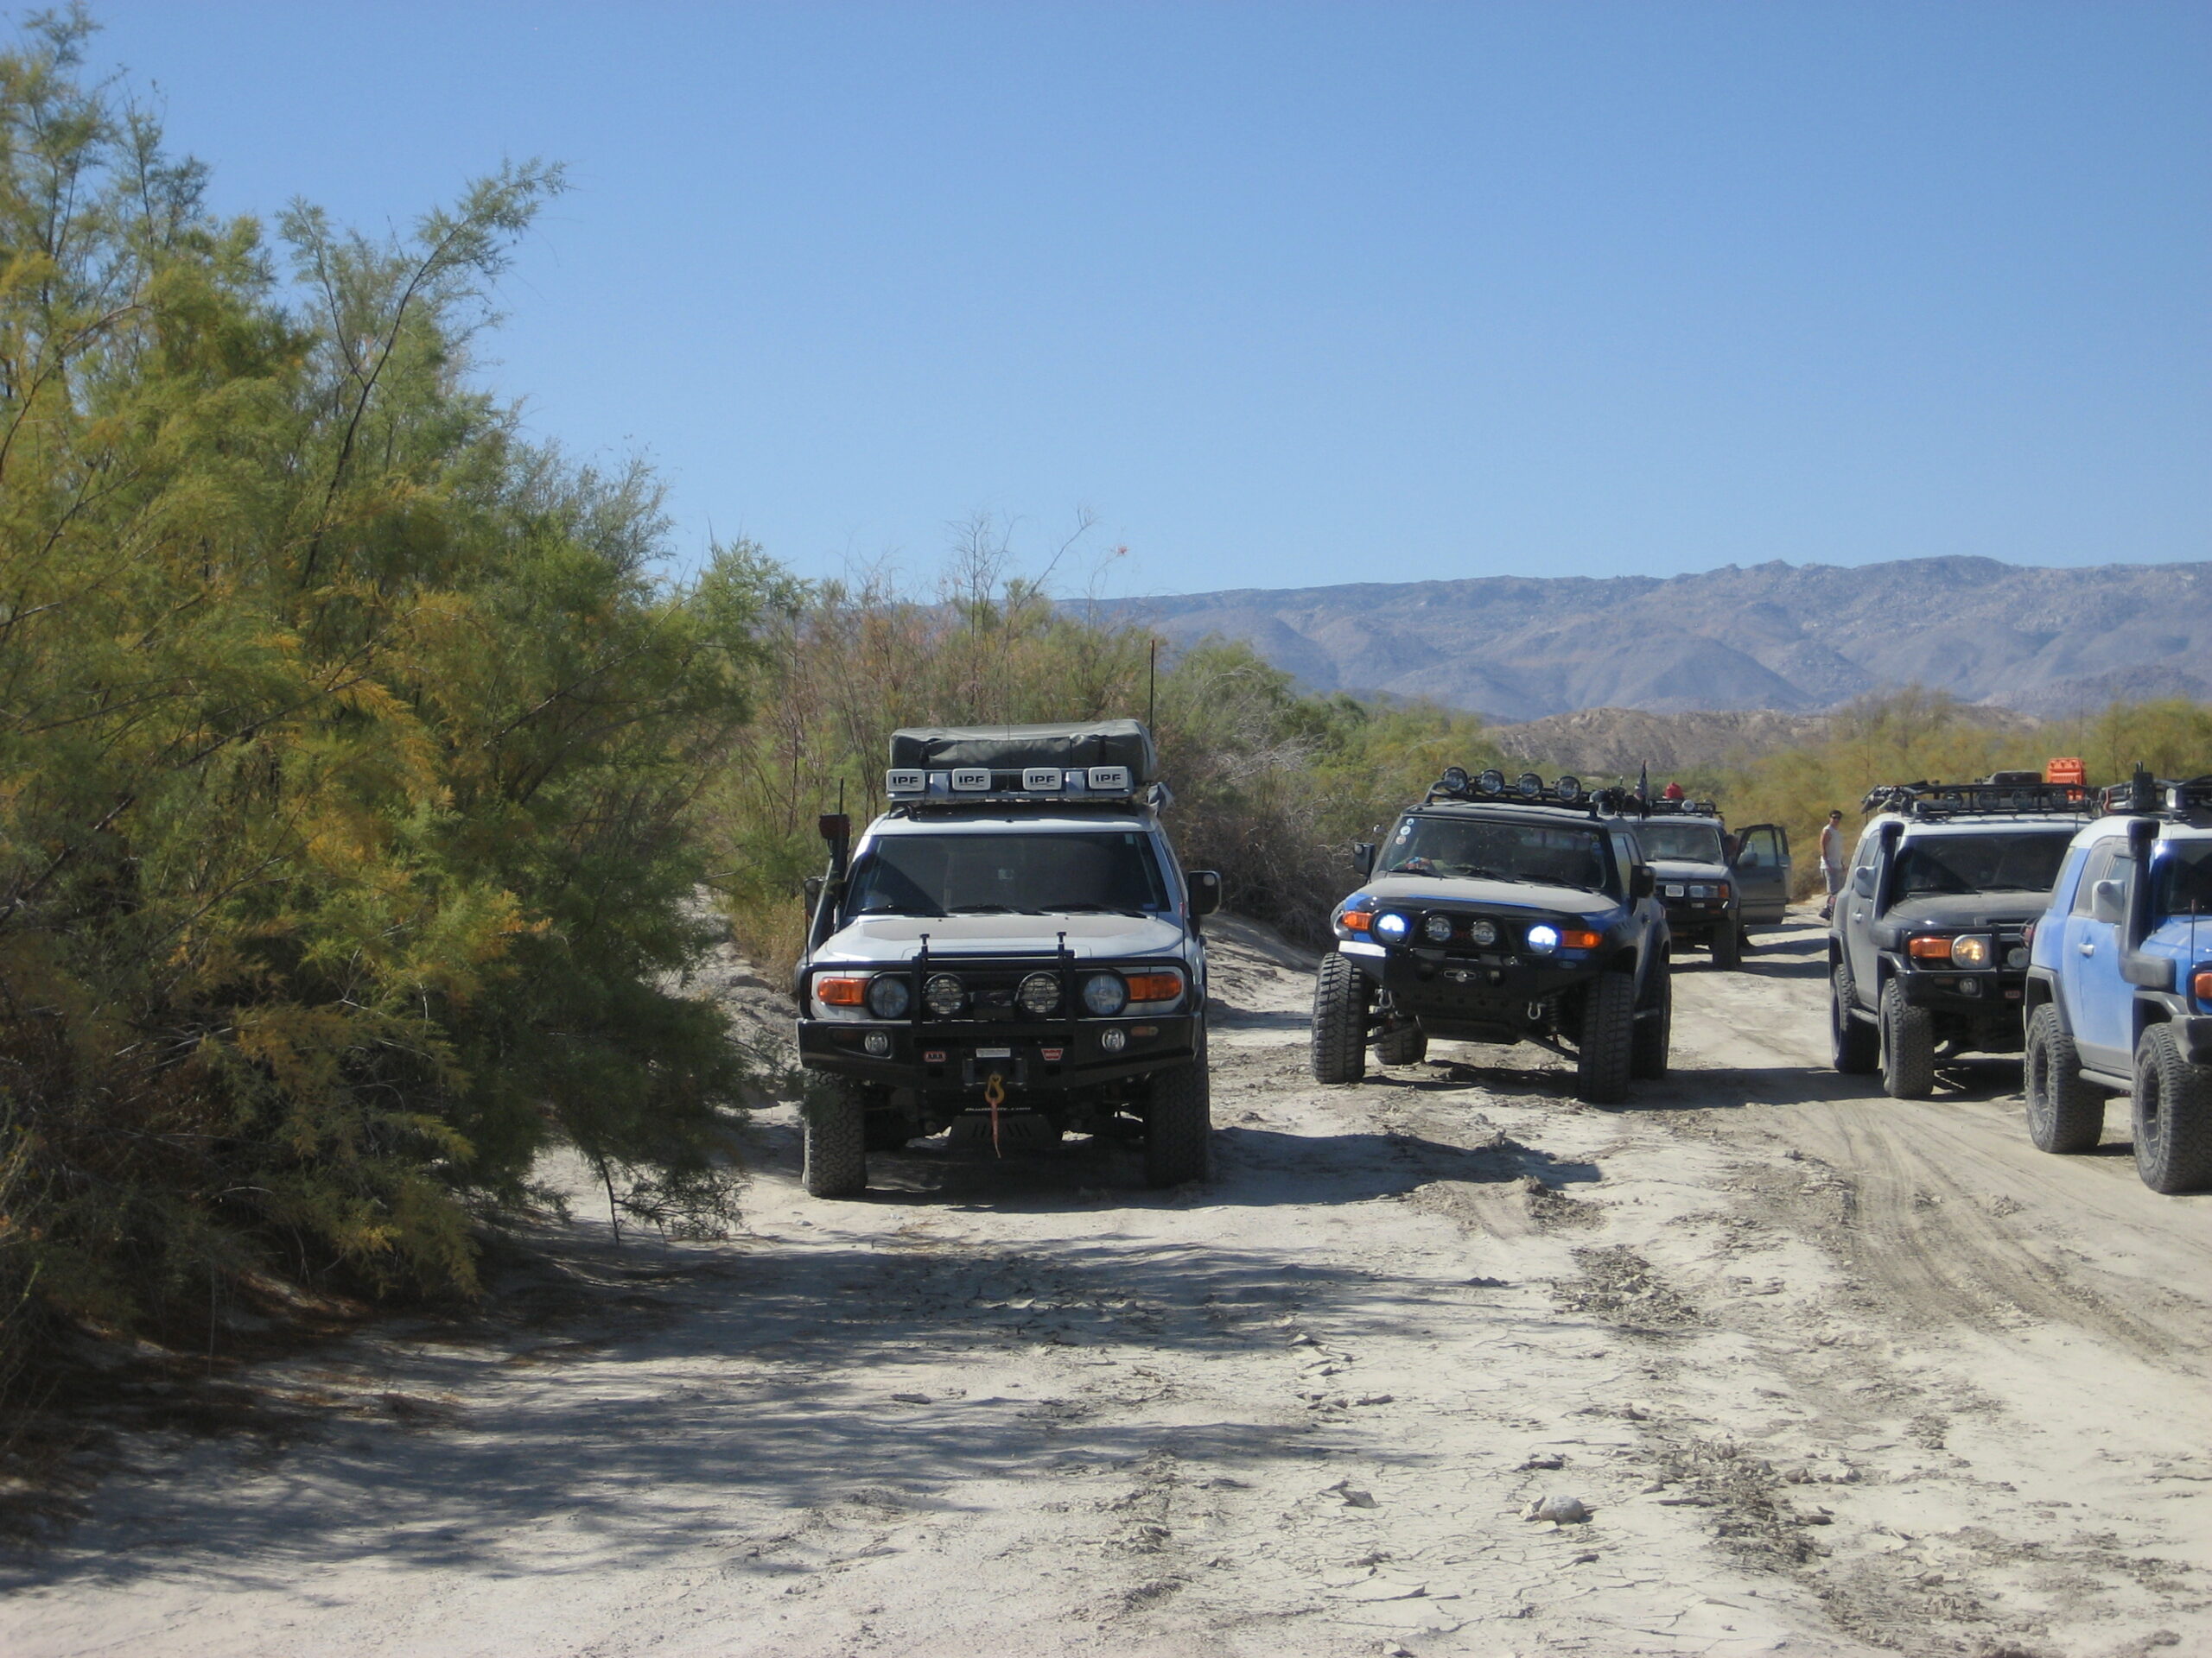
[[[1071,725],[914,725],[891,732],[885,789],[894,805],[1128,802],[1166,805],[1152,734],[1137,721]]]

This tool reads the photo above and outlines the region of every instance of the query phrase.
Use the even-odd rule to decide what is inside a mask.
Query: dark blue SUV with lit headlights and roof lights
[[[1575,1061],[1575,1092],[1628,1096],[1666,1077],[1674,1010],[1666,911],[1628,796],[1511,787],[1444,772],[1336,906],[1336,953],[1314,984],[1314,1077],[1356,1083],[1449,1041],[1533,1041]]]

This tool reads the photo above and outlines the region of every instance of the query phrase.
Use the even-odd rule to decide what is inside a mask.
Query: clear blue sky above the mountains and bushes
[[[11,15],[20,15],[11,13]],[[810,575],[2212,548],[2212,7],[108,0],[217,206],[573,168],[495,385]],[[1082,579],[1082,570],[1077,570]]]

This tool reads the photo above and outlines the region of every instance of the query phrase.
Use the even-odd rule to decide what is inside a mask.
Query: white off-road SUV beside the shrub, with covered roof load
[[[1206,942],[1137,721],[900,730],[889,809],[823,818],[799,959],[805,1189],[942,1130],[1141,1134],[1152,1185],[1206,1174]],[[1011,1121],[1002,1121],[1011,1119]]]

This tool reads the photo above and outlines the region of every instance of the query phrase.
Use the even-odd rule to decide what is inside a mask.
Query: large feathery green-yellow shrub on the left
[[[732,1050],[661,977],[750,590],[469,385],[557,170],[270,241],[86,31],[0,53],[0,1298],[467,1293],[549,1138],[714,1165]]]

